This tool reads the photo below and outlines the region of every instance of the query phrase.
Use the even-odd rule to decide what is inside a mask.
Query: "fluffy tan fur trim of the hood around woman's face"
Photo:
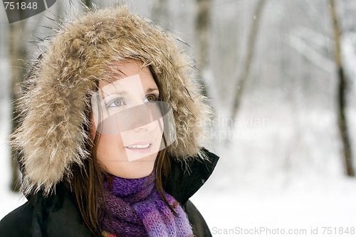
[[[72,164],[90,155],[90,95],[98,80],[108,80],[108,65],[125,58],[142,60],[157,77],[161,98],[170,103],[177,139],[167,147],[172,157],[204,157],[199,139],[210,113],[194,83],[189,58],[175,38],[124,7],[79,16],[45,43],[19,100],[21,124],[11,135],[21,151],[25,194],[48,194],[71,175]]]

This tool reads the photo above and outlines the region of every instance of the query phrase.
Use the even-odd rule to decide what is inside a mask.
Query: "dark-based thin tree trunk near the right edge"
[[[347,81],[344,74],[344,67],[341,60],[340,35],[341,29],[337,21],[337,12],[334,0],[329,1],[330,13],[333,19],[333,33],[335,38],[335,63],[337,66],[337,75],[339,78],[337,88],[337,125],[339,127],[344,153],[344,162],[347,176],[355,177],[355,171],[352,166],[352,150],[350,146],[350,137],[347,130],[347,117],[345,114],[345,94]]]

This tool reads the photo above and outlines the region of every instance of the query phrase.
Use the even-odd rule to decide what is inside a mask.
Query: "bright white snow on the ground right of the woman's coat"
[[[356,228],[355,184],[355,179],[310,181],[305,177],[287,190],[271,192],[240,191],[236,186],[225,191],[204,187],[192,201],[206,218],[213,236],[355,236],[323,233],[327,228]],[[241,228],[251,232],[246,234]],[[255,228],[266,231],[256,232]],[[279,233],[286,234],[273,232],[278,228]],[[312,234],[311,228],[318,228],[318,235]],[[298,234],[287,234],[289,230]]]

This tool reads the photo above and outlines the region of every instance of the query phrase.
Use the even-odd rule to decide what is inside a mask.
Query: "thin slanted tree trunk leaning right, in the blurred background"
[[[246,85],[246,80],[248,80],[248,76],[250,75],[250,68],[251,68],[251,63],[253,60],[253,55],[255,51],[255,45],[256,45],[256,38],[258,36],[258,28],[260,26],[261,22],[261,15],[262,15],[262,10],[263,6],[265,4],[266,0],[259,0],[256,4],[256,9],[253,13],[253,21],[251,23],[251,30],[248,34],[248,41],[247,41],[247,55],[246,55],[246,60],[245,60],[245,65],[244,68],[241,71],[241,74],[239,76],[239,80],[237,80],[237,85],[234,90],[234,104],[231,110],[231,119],[234,121],[236,118],[236,114],[239,110],[239,106],[241,104],[241,97],[242,94],[244,93],[244,88]]]

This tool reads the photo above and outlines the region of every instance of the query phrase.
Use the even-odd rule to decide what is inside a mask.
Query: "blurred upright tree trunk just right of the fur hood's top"
[[[200,71],[199,77],[203,78],[203,72],[206,69],[207,61],[209,58],[209,26],[210,26],[210,9],[211,9],[211,0],[197,0],[196,1],[197,15],[195,19],[195,31],[197,33],[197,45],[198,45],[198,58],[197,66]],[[208,96],[206,90],[206,83],[204,80],[201,80],[202,94]]]

